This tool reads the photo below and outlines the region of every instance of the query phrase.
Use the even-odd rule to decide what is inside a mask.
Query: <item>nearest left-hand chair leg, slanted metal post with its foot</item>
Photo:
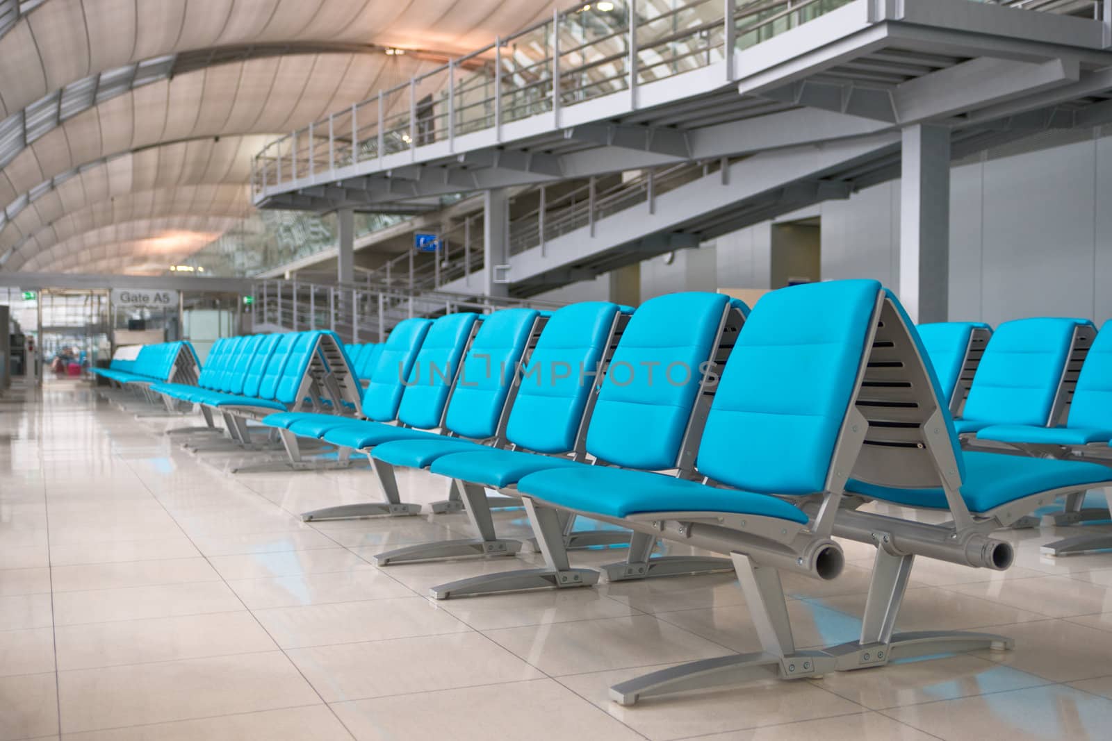
[[[716,689],[758,679],[815,678],[834,669],[835,660],[821,651],[795,650],[780,572],[772,567],[759,567],[741,553],[732,553],[731,560],[762,651],[703,659],[631,679],[610,688],[610,700],[632,705],[643,698]]]

